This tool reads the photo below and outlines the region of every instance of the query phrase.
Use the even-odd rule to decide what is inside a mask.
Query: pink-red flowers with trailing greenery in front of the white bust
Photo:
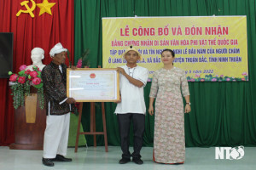
[[[33,70],[26,70],[26,65],[20,66],[18,74],[9,71],[9,81],[13,82],[11,86],[14,107],[18,109],[25,105],[25,96],[30,95],[30,88],[38,88],[38,99],[41,109],[44,109],[44,88],[41,79],[41,71],[37,66],[33,66]]]

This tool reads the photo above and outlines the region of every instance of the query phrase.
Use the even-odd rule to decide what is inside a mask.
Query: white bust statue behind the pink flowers
[[[42,49],[42,48],[33,48],[32,51],[31,51],[31,59],[32,59],[33,64],[28,65],[26,67],[26,70],[33,71],[33,66],[38,66],[40,71],[42,71],[44,66],[45,66],[42,63],[42,59],[44,59],[44,49]]]

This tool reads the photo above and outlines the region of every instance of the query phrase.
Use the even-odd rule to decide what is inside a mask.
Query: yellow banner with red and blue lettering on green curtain
[[[103,68],[125,65],[132,45],[152,78],[170,48],[189,82],[248,80],[246,16],[103,18],[102,43]]]

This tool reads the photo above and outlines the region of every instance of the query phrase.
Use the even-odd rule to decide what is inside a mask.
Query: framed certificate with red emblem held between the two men
[[[67,69],[67,97],[78,102],[113,102],[119,100],[117,69]]]

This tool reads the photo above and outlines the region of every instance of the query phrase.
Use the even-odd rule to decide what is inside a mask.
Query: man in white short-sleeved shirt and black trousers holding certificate
[[[120,73],[120,100],[114,111],[119,122],[119,133],[121,138],[121,149],[123,151],[120,164],[134,161],[143,164],[140,150],[143,146],[143,133],[145,129],[146,106],[143,88],[148,81],[148,69],[137,65],[137,60],[142,55],[132,46],[124,53],[127,64],[118,67]],[[134,152],[129,151],[129,133],[131,121],[133,122]]]

